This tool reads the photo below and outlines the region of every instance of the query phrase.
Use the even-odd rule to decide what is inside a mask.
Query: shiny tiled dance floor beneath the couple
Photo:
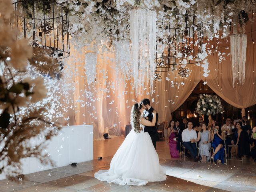
[[[25,175],[21,182],[0,180],[0,192],[256,192],[256,166],[253,160],[229,160],[228,165],[202,164],[190,159],[171,159],[165,141],[157,142],[160,164],[166,169],[165,182],[146,186],[119,186],[93,177],[108,169],[113,154],[124,137],[94,142],[94,159],[77,166],[64,166]],[[102,160],[97,157],[102,156]]]

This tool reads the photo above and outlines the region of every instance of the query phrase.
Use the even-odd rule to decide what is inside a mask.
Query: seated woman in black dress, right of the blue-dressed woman
[[[238,145],[238,153],[237,156],[240,158],[244,155],[249,155],[250,153],[250,142],[249,142],[249,135],[246,130],[242,130],[242,122],[236,122],[236,128],[238,137],[236,140],[236,145]]]

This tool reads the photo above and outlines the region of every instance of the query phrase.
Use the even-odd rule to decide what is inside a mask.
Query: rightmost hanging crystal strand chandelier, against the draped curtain
[[[232,64],[233,86],[237,83],[244,84],[246,62],[246,34],[234,34],[230,36],[230,57]]]

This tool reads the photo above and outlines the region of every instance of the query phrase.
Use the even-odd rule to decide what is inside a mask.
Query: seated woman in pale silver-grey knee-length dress
[[[202,130],[198,132],[196,142],[199,142],[199,154],[201,162],[206,163],[210,159],[211,136],[210,131],[207,130],[206,124],[202,123]]]

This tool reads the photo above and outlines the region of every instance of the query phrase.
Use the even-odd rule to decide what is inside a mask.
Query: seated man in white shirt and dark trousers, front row
[[[184,129],[181,136],[183,141],[183,146],[190,151],[191,156],[194,161],[198,161],[197,150],[196,150],[196,131],[193,128],[193,123],[188,122],[188,128]]]

